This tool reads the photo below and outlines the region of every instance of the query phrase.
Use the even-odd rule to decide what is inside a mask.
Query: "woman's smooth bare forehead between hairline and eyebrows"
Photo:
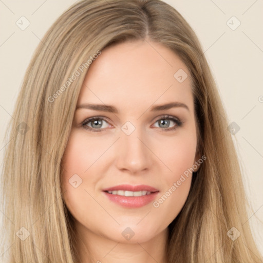
[[[183,82],[182,78],[178,81],[178,75]],[[172,101],[187,103],[193,110],[190,72],[186,65],[159,43],[133,41],[102,50],[88,69],[78,104],[145,108],[155,102]]]

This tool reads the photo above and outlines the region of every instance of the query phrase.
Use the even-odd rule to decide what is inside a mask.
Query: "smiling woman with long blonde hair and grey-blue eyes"
[[[262,262],[216,85],[174,8],[82,1],[42,43],[5,156],[9,262]]]

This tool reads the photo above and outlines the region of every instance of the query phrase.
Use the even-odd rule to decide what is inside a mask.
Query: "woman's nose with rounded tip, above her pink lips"
[[[130,135],[121,132],[116,156],[118,169],[132,174],[148,170],[153,165],[153,153],[147,142],[137,128]]]

